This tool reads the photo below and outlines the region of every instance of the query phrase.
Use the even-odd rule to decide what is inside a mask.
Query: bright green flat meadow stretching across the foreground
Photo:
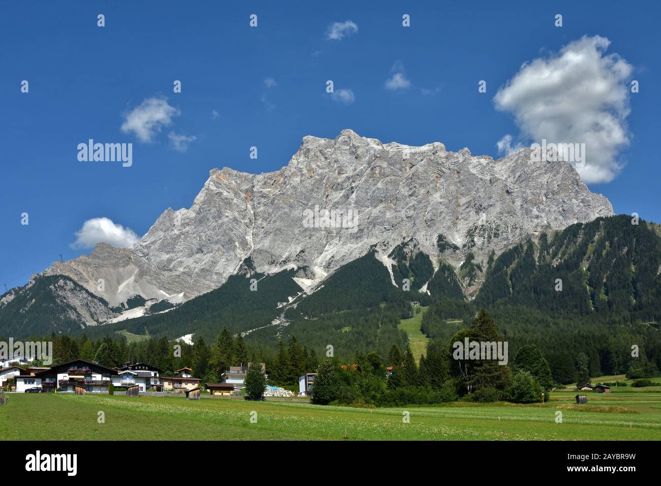
[[[16,393],[0,407],[0,440],[344,440],[345,430],[347,440],[661,440],[661,393],[594,393],[587,406],[573,403],[570,392],[553,393],[543,406],[397,409]]]

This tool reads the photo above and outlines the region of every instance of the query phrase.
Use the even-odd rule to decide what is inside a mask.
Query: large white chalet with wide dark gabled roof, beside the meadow
[[[74,391],[77,385],[84,387],[88,393],[98,393],[108,391],[114,373],[110,368],[98,363],[78,359],[57,364],[52,368],[40,369],[34,374],[17,375],[16,391],[21,393],[34,386],[41,386],[46,392],[57,388],[61,388],[62,391]]]

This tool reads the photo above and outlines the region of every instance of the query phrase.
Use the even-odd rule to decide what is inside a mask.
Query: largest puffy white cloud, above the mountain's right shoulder
[[[609,44],[584,36],[557,54],[524,63],[494,97],[498,110],[514,114],[520,140],[585,143],[585,164],[576,168],[585,182],[612,181],[621,169],[617,155],[629,143],[632,67],[617,54],[606,55]],[[498,142],[504,152],[512,149],[512,137],[506,137]]]

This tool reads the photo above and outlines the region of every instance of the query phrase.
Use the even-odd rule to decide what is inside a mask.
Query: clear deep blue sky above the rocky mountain
[[[306,135],[334,138],[352,128],[382,142],[443,142],[497,158],[506,134],[529,143],[526,132],[545,130],[517,122],[525,100],[496,109],[498,89],[524,62],[553,58],[583,36],[607,38],[603,56],[617,53],[631,70],[621,81],[640,83],[620,106],[628,143],[611,155],[622,168],[590,188],[617,213],[661,222],[658,3],[237,4],[0,3],[0,282],[24,284],[59,254],[89,253],[72,244],[92,218],[141,236],[166,208],[190,206],[210,169],[277,170]],[[404,14],[410,27],[402,26]],[[338,35],[329,30],[334,22]],[[175,80],[181,93],[173,93]],[[480,80],[486,93],[478,92]],[[146,142],[122,125],[139,123],[134,110],[150,99],[169,107],[169,124],[155,122]],[[555,121],[561,130],[564,122]],[[132,166],[79,161],[77,145],[89,139],[133,143]],[[258,159],[249,157],[252,146]]]

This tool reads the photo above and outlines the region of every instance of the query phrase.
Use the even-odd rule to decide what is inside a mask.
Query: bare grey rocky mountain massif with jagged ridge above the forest
[[[297,279],[307,290],[371,250],[388,265],[410,240],[434,268],[458,266],[469,253],[484,260],[527,235],[612,214],[572,165],[535,161],[530,149],[494,160],[342,130],[304,137],[276,172],[213,169],[190,208],[168,208],[132,249],[100,243],[44,274],[111,306],[135,296],[177,304],[221,286],[247,257],[267,274],[308,267]]]

